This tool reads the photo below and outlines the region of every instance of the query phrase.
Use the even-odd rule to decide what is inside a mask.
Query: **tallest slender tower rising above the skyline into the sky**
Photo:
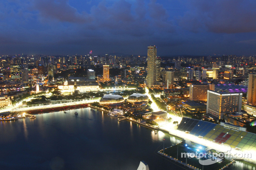
[[[148,47],[148,87],[156,84],[156,46]]]

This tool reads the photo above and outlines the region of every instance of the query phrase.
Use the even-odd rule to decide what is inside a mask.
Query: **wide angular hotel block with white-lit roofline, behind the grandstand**
[[[207,90],[206,114],[214,119],[223,119],[225,114],[241,112],[242,95],[242,93]]]

